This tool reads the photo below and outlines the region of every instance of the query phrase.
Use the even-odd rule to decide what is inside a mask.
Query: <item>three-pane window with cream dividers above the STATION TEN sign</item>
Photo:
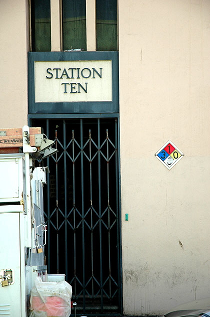
[[[116,51],[117,0],[94,1],[30,0],[31,51]]]

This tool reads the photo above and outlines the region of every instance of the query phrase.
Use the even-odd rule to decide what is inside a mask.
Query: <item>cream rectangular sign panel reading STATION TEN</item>
[[[112,101],[111,61],[35,61],[35,102]]]

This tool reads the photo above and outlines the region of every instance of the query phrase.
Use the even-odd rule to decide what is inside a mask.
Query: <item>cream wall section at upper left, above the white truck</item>
[[[27,124],[27,3],[0,2],[0,128]]]

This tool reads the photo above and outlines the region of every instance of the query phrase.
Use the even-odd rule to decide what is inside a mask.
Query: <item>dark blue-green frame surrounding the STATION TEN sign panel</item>
[[[35,102],[35,61],[111,61],[112,101]],[[28,114],[119,113],[118,52],[28,52]]]

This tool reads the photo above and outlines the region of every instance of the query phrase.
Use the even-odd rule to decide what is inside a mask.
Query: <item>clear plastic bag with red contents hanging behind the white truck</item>
[[[69,317],[71,286],[66,281],[42,282],[37,277],[30,294],[30,311],[35,317]]]

